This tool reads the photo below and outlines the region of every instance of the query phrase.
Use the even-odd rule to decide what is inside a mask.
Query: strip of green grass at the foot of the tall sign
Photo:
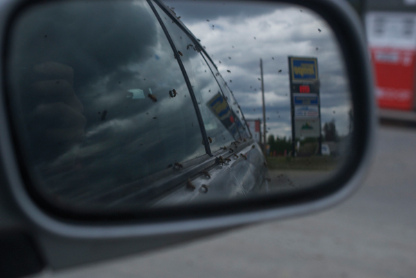
[[[333,156],[309,156],[309,157],[266,157],[269,169],[280,170],[321,170],[330,171],[338,166],[339,158]]]

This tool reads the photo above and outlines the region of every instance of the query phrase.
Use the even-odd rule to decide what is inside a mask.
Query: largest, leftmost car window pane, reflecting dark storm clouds
[[[205,154],[187,84],[146,1],[47,3],[13,30],[11,111],[46,192],[88,202]]]

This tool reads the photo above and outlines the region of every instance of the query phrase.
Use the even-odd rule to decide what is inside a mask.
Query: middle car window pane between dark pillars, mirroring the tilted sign
[[[155,4],[187,71],[204,121],[211,151],[239,138],[232,111],[198,46]]]

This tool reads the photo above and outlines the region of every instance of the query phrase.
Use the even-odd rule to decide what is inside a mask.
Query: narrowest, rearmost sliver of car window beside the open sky
[[[209,64],[212,71],[214,72],[214,75],[216,76],[216,79],[218,80],[218,84],[220,84],[220,88],[223,91],[223,95],[225,96],[225,99],[227,100],[229,106],[231,107],[232,115],[235,119],[237,130],[239,131],[239,136],[241,138],[249,138],[250,136],[248,133],[247,126],[245,125],[243,112],[241,111],[240,106],[236,101],[236,98],[234,98],[232,91],[229,90],[227,86],[227,82],[225,82],[223,77],[220,75],[220,73],[216,69],[216,66],[212,64],[211,60],[208,59],[204,53],[202,53],[202,55],[204,56],[205,60]]]

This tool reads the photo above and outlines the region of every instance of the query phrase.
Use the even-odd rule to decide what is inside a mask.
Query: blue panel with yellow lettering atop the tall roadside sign
[[[293,81],[318,80],[318,63],[315,58],[291,58]]]

